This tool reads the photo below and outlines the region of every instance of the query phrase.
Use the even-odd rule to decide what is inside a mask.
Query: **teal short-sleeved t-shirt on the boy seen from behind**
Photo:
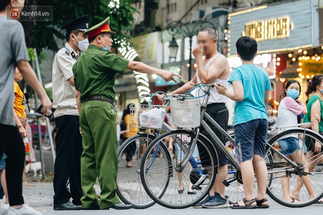
[[[270,90],[269,75],[263,68],[254,64],[244,64],[232,70],[229,83],[241,82],[244,98],[234,105],[234,125],[246,123],[254,119],[267,119],[265,91]]]

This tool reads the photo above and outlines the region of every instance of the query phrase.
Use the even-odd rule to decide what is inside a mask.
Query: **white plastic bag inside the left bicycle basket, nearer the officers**
[[[162,123],[165,118],[164,108],[153,108],[147,111],[143,111],[139,115],[140,127],[161,129]]]

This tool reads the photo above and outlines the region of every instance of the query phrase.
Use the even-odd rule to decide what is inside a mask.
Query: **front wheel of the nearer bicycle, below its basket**
[[[152,141],[143,155],[140,167],[142,185],[147,194],[161,206],[171,209],[193,206],[208,194],[214,183],[218,170],[217,153],[212,143],[202,134],[198,137],[198,147],[192,149],[194,152],[199,151],[195,155],[197,157],[191,158],[192,163],[185,167],[181,166],[188,153],[180,150],[181,145],[191,146],[195,137],[196,134],[188,130],[168,131]],[[169,140],[178,149],[173,158],[164,145]],[[196,154],[194,152],[193,155]],[[206,178],[201,177],[203,174]],[[193,186],[197,183],[198,186]],[[179,192],[182,189],[183,193]]]

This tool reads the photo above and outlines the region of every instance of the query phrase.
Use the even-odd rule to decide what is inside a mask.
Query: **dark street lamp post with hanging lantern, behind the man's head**
[[[199,27],[199,28],[197,28],[197,27]],[[204,28],[204,27],[212,27],[215,29],[213,23],[210,21],[198,21],[195,23],[195,25],[191,29],[188,27],[187,24],[183,23],[182,21],[172,21],[172,22],[168,23],[167,31],[169,34],[171,34],[173,36],[172,41],[169,43],[169,50],[170,50],[171,58],[176,59],[176,55],[177,55],[178,45],[175,41],[175,35],[183,34],[189,38],[188,81],[191,80],[191,75],[192,75],[191,74],[192,73],[192,38],[194,35],[196,35],[198,33],[199,29]],[[175,43],[177,45],[177,48],[176,48],[175,57],[173,57],[174,51],[175,51]]]

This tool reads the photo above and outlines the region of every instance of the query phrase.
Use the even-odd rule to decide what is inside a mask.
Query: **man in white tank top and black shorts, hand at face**
[[[197,37],[197,46],[193,49],[192,53],[196,59],[197,71],[192,80],[187,82],[182,87],[169,93],[168,96],[173,94],[185,94],[194,86],[190,84],[211,84],[221,83],[224,86],[229,86],[229,63],[225,56],[217,51],[217,32],[213,28],[206,27],[199,31]],[[203,56],[204,54],[204,56]],[[199,90],[197,90],[199,91]],[[200,90],[196,96],[203,95],[204,92]],[[161,96],[161,99],[164,96]],[[202,100],[204,97],[202,97]],[[225,105],[227,97],[220,95],[216,92],[216,88],[211,88],[210,97],[208,100],[207,113],[225,130],[227,130],[229,111]],[[224,136],[208,122],[208,126],[213,129],[215,134],[225,144]],[[207,132],[201,128],[201,133],[208,136]],[[210,139],[210,138],[209,138]],[[216,147],[216,146],[215,146]],[[217,147],[216,147],[217,149]],[[225,196],[225,185],[222,183],[223,179],[227,179],[228,167],[226,156],[217,149],[219,158],[219,171],[215,178],[215,182],[210,190],[208,196],[194,208],[229,208],[228,197]],[[200,157],[205,157],[200,152]],[[203,162],[203,161],[202,161]],[[209,172],[210,174],[211,172]],[[183,188],[178,188],[183,190]]]

